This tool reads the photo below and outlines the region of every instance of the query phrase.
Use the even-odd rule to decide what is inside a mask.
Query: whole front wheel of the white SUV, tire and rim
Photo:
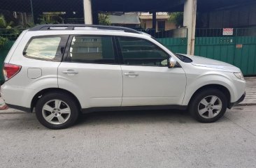
[[[190,114],[202,123],[217,121],[226,110],[227,97],[218,89],[200,91],[190,102]]]

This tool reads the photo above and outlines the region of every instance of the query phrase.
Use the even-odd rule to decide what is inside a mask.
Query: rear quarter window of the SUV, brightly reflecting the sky
[[[31,38],[23,55],[31,59],[61,61],[68,36],[38,36]]]

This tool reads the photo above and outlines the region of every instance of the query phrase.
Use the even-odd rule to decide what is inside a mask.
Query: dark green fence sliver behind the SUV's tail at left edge
[[[13,43],[15,41],[13,40],[9,40],[8,43],[6,43],[6,45],[3,45],[2,47],[0,47],[0,81],[3,82],[4,77],[3,77],[3,61],[4,59],[6,59],[6,56],[10,50],[10,48],[13,46]]]

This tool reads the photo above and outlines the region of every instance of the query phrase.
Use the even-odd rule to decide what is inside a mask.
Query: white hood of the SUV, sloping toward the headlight
[[[201,56],[193,56],[193,55],[187,55],[187,54],[183,54],[183,55],[192,59],[192,65],[194,65],[194,66],[215,68],[215,69],[220,69],[220,70],[226,70],[229,72],[241,72],[241,70],[239,68],[237,68],[236,66],[233,66],[229,63],[217,61],[214,59],[207,59],[207,58],[204,58]]]

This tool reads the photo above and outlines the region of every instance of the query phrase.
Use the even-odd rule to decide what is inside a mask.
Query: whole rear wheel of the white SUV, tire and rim
[[[63,129],[76,123],[79,108],[69,94],[47,93],[36,103],[36,117],[45,127]]]

